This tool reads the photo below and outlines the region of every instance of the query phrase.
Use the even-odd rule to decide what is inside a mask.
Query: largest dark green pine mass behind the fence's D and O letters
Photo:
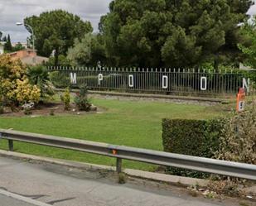
[[[115,0],[101,18],[110,64],[191,67],[239,55],[249,0]]]

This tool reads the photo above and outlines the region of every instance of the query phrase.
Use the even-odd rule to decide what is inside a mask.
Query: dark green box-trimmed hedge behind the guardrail
[[[212,158],[219,149],[223,122],[214,120],[163,119],[162,144],[164,151],[188,156]],[[191,170],[168,167],[167,173],[197,178],[209,175]]]

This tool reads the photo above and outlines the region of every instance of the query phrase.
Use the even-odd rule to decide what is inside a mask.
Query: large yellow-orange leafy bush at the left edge
[[[0,99],[13,107],[22,103],[38,103],[41,90],[31,85],[26,75],[26,67],[20,60],[12,60],[9,55],[0,55]]]

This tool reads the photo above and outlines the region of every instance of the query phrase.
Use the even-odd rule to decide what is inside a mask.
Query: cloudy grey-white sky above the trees
[[[109,11],[111,0],[0,0],[0,31],[10,34],[12,42],[26,42],[29,33],[24,26],[16,26],[25,17],[41,12],[63,9],[88,20],[98,31],[99,18]],[[249,9],[249,15],[256,14],[256,5]]]

